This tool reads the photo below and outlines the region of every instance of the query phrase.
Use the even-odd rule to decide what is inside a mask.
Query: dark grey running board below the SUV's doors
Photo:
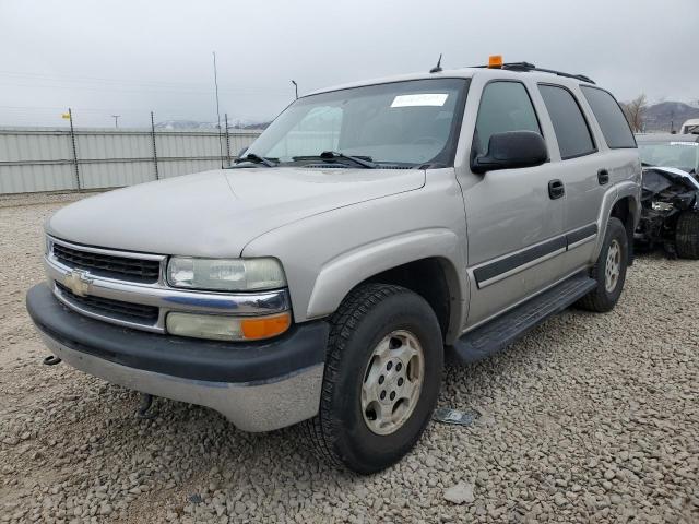
[[[466,333],[450,352],[460,362],[475,362],[503,349],[548,317],[561,312],[596,287],[597,283],[578,273],[536,297]]]

